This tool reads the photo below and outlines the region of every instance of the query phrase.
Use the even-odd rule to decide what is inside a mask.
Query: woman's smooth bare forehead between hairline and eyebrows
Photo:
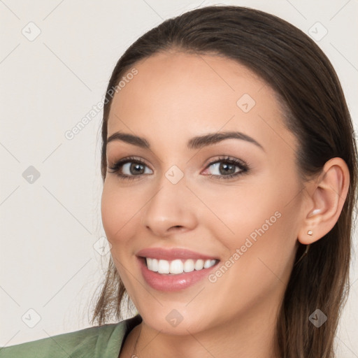
[[[108,136],[123,130],[176,143],[180,136],[223,129],[262,141],[292,137],[275,92],[232,59],[162,52],[134,68],[136,76],[113,98]]]

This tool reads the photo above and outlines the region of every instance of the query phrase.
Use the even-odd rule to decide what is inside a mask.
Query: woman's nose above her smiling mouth
[[[141,223],[158,238],[189,231],[197,224],[197,205],[185,178],[173,184],[164,176],[143,208]]]

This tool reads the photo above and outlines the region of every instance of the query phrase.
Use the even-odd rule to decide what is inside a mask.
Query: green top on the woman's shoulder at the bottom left
[[[1,358],[117,358],[125,338],[142,317],[103,324],[0,348]]]

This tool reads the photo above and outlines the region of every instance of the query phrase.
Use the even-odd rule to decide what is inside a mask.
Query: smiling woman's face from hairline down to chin
[[[108,169],[101,203],[129,296],[145,324],[171,334],[274,322],[294,261],[303,184],[296,138],[273,90],[224,57],[162,53],[134,67],[110,108],[108,168],[134,159]],[[117,132],[144,138],[148,148]],[[227,132],[241,134],[193,141]],[[157,259],[152,270],[162,273],[143,257]],[[215,265],[195,270],[199,259]]]

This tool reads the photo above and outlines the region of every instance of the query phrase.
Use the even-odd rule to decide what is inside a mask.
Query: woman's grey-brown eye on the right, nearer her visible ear
[[[210,168],[212,168],[213,174],[208,176],[217,179],[229,179],[240,176],[243,173],[247,173],[249,169],[248,164],[231,157],[220,157],[215,162],[210,162],[206,167],[206,171]]]

